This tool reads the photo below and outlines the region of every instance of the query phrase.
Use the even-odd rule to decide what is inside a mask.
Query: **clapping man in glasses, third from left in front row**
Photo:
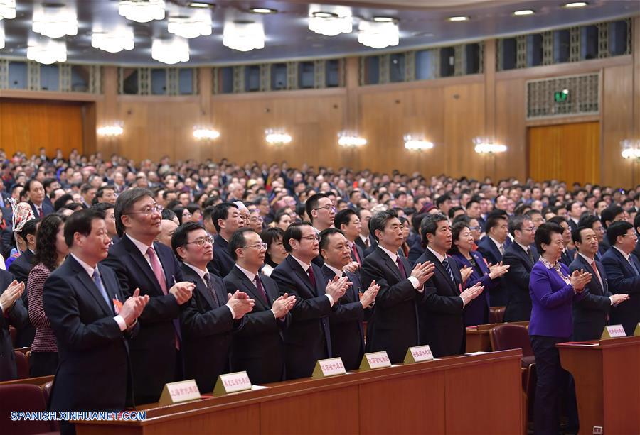
[[[238,290],[228,297],[220,277],[208,272],[213,248],[200,224],[178,226],[171,246],[182,261],[184,280],[196,286],[180,314],[185,378],[195,378],[201,392],[211,392],[218,375],[229,372],[231,333],[242,327],[242,316],[251,311],[253,300]]]

